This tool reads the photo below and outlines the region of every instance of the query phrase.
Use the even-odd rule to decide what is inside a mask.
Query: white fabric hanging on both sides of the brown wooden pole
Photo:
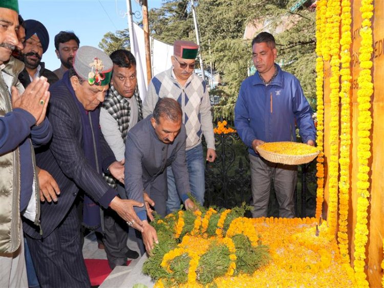
[[[145,44],[144,44],[144,30],[136,23],[133,23],[133,37],[131,42],[134,45],[137,82],[141,99],[144,99],[146,90],[148,88],[146,63],[145,63]],[[151,62],[152,62],[152,77],[169,69],[172,66],[170,56],[173,55],[173,45],[161,42],[153,37],[150,37],[151,42]],[[131,45],[132,45],[131,44]]]

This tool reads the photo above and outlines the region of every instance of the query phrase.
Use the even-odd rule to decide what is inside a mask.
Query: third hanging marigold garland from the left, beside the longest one
[[[337,240],[344,263],[350,263],[348,254],[348,201],[349,201],[349,155],[351,144],[351,70],[350,70],[350,48],[352,43],[351,38],[351,3],[350,0],[342,1],[342,38],[340,39],[341,51],[340,61],[342,69],[340,70],[342,88],[340,89],[340,98],[342,101],[341,111],[341,134],[340,134],[340,180],[339,187],[339,227]]]

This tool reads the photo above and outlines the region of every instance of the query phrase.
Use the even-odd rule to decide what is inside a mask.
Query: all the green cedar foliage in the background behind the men
[[[214,107],[215,122],[220,117],[232,122],[240,85],[247,77],[248,69],[253,67],[251,39],[243,38],[245,28],[251,22],[263,23],[264,28],[258,32],[268,31],[275,36],[278,63],[284,63],[282,69],[300,80],[305,96],[315,109],[315,11],[308,9],[314,0],[306,1],[304,6],[291,12],[290,8],[297,2],[195,0],[205,68],[212,63],[223,83],[209,92],[221,96],[220,104]],[[162,7],[151,9],[148,12],[151,35],[168,44],[179,39],[196,42],[190,5],[188,0],[165,0]],[[274,32],[282,27],[286,29],[284,32]],[[105,34],[99,47],[108,54],[119,48],[128,48],[127,30]]]

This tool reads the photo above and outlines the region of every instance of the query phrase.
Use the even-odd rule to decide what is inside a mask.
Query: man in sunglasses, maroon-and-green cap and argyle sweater
[[[143,102],[143,116],[151,114],[159,98],[177,100],[183,111],[182,122],[186,129],[186,161],[192,195],[204,204],[204,155],[201,138],[207,142],[206,160],[216,158],[211,106],[205,81],[194,74],[199,46],[190,41],[176,41],[172,68],[152,78]],[[180,209],[181,199],[176,190],[172,169],[167,169],[167,213]]]

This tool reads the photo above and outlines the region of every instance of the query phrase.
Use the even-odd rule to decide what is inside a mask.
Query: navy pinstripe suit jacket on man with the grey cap
[[[70,83],[68,85],[68,78],[65,78],[67,75],[49,89],[51,98],[47,115],[53,128],[53,137],[49,147],[36,153],[37,166],[47,170],[60,189],[56,203],[47,201],[41,203],[42,235],[39,234],[40,230],[36,225],[28,220],[24,221],[24,231],[36,239],[47,237],[52,233],[67,215],[80,189],[104,208],[108,208],[111,200],[117,195],[84,156],[81,116],[71,94],[74,93],[72,86],[69,86]],[[101,131],[99,141],[101,153],[98,160],[105,172],[116,158]]]

